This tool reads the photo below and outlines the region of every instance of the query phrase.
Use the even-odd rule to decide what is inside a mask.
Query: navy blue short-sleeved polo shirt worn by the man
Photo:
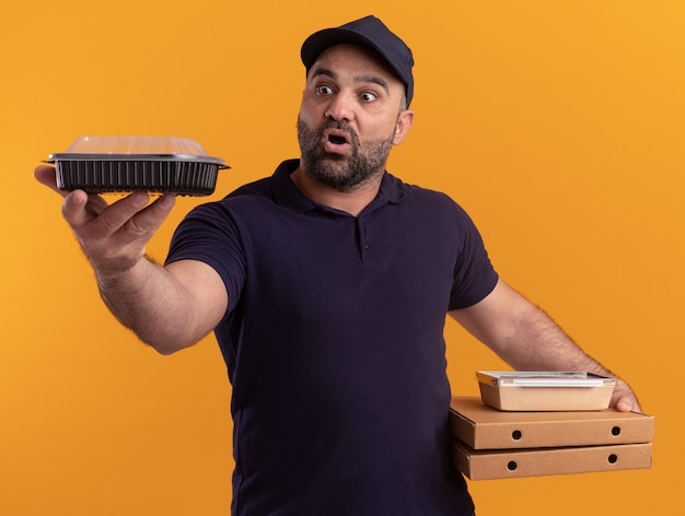
[[[495,288],[481,238],[450,198],[387,173],[358,216],[316,204],[297,166],[193,210],[167,258],[207,262],[229,294],[233,514],[471,515],[443,327]]]

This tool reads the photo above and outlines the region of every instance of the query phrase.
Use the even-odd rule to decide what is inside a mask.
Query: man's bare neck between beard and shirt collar
[[[379,194],[383,169],[350,191],[340,191],[317,181],[302,168],[302,165],[290,177],[300,191],[312,201],[357,216]]]

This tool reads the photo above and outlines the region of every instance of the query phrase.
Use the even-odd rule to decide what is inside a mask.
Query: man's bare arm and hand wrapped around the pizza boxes
[[[541,308],[500,280],[481,302],[450,313],[514,370],[587,371],[615,376],[588,355]],[[640,411],[628,385],[617,378],[611,401],[620,411]]]

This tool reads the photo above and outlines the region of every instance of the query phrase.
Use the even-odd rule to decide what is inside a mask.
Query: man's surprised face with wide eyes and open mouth
[[[411,125],[403,105],[404,84],[362,47],[325,50],[310,70],[298,119],[303,168],[340,191],[380,177]]]

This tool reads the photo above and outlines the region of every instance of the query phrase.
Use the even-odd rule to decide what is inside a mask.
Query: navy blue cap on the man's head
[[[321,52],[345,43],[362,45],[379,52],[404,82],[409,106],[414,96],[411,49],[375,16],[365,16],[335,28],[324,28],[307,37],[300,52],[307,73]]]

